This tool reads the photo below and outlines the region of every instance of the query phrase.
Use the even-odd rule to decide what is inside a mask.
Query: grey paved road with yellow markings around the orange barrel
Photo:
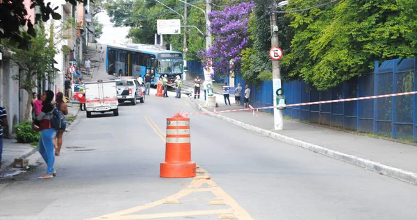
[[[79,115],[56,160],[0,189],[0,219],[415,219],[416,186],[277,142],[204,115],[191,117],[199,178],[159,178],[165,119],[189,99],[147,96],[120,115]],[[211,176],[211,179],[206,178]]]

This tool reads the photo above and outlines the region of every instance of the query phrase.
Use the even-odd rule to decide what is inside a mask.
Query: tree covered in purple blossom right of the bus
[[[199,51],[199,56],[203,60],[213,59],[216,74],[230,73],[240,65],[240,52],[249,38],[247,22],[253,8],[254,3],[240,3],[208,14],[214,42],[208,51]]]

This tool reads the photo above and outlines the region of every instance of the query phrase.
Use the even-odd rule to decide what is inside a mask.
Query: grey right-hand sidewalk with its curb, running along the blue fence
[[[193,101],[202,111],[207,111],[202,108],[204,99]],[[219,108],[215,108],[216,111],[242,108],[233,104],[225,106],[222,95],[216,94],[216,101],[219,103]],[[213,112],[213,109],[208,110]],[[243,111],[224,112],[222,115],[211,113],[210,115],[281,142],[300,146],[315,153],[417,185],[417,146],[286,119],[284,119],[284,130],[274,130],[274,117],[265,112],[259,112],[258,118],[253,115],[253,112]]]

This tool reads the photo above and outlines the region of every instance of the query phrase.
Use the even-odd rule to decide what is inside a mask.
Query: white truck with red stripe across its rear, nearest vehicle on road
[[[92,112],[113,112],[119,115],[115,81],[95,81],[85,83],[85,110],[87,117]]]

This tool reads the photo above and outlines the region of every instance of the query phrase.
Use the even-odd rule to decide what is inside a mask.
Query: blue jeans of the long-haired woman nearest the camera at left
[[[41,130],[40,139],[39,139],[39,153],[42,155],[42,158],[47,163],[48,170],[47,174],[52,175],[54,171],[54,137],[56,136],[55,128],[50,128],[46,130]]]

